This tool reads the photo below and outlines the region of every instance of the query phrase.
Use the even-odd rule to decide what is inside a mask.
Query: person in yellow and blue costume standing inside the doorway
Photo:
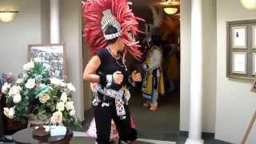
[[[151,111],[156,111],[158,110],[158,95],[163,95],[165,90],[162,74],[162,50],[158,47],[160,40],[157,36],[153,36],[151,41],[146,61],[142,64],[144,70],[142,97],[146,98],[143,106],[150,107]]]

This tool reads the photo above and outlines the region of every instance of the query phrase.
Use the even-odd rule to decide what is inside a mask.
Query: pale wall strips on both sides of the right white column
[[[214,133],[216,96],[216,5],[202,1],[203,14],[203,104],[202,131]],[[181,0],[181,108],[180,130],[188,131],[190,120],[190,26],[191,1]]]

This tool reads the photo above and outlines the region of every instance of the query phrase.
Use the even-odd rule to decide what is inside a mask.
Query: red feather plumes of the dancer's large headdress
[[[138,21],[142,18],[135,17],[130,10],[127,0],[87,0],[82,7],[82,16],[85,18],[84,38],[92,49],[92,54],[106,46],[106,35],[102,32],[103,11],[106,15],[112,14],[121,26],[120,35],[126,44],[126,50],[135,58],[140,58],[142,53],[138,50],[138,42],[130,39],[128,32],[136,36],[138,32]],[[104,31],[104,30],[103,30]]]

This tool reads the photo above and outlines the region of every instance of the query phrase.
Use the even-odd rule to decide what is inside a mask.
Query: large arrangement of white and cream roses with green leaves
[[[25,72],[15,82],[6,82],[2,94],[6,95],[4,114],[18,122],[26,122],[28,115],[45,124],[63,124],[78,129],[81,123],[75,118],[71,93],[72,83],[50,77],[50,66],[42,62],[28,62]]]

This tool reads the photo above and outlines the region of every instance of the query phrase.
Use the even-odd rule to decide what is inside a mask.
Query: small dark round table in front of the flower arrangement
[[[66,135],[62,136],[49,136],[47,138],[43,138],[42,140],[38,140],[33,137],[34,128],[27,128],[24,130],[20,130],[13,135],[13,140],[15,143],[21,144],[29,144],[29,143],[55,143],[55,144],[69,144],[71,138],[73,138],[73,132],[68,130]]]

